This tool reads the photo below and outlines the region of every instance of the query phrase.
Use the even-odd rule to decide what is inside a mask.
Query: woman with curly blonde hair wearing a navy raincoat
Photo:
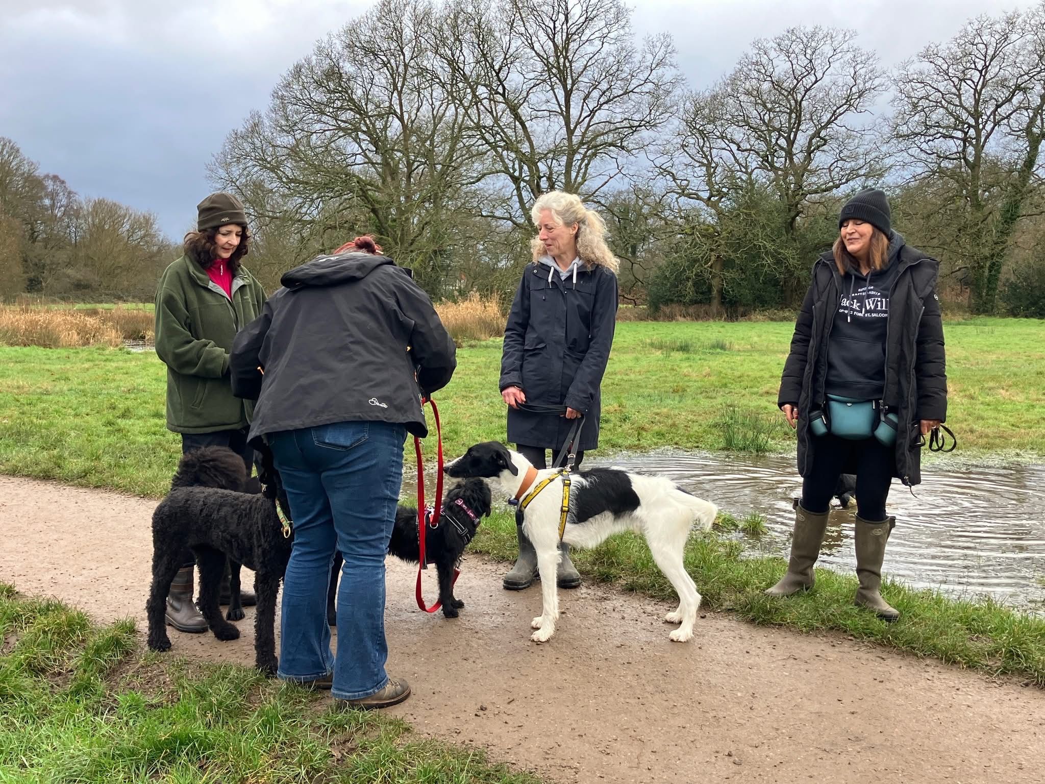
[[[606,246],[606,224],[574,193],[554,190],[533,205],[538,229],[533,262],[527,264],[505,326],[501,395],[508,405],[508,440],[537,468],[545,452],[560,449],[570,420],[584,417],[579,443],[584,452],[599,444],[600,385],[606,371],[617,321],[618,261]],[[565,414],[528,411],[527,406],[565,407]],[[505,575],[509,591],[528,587],[537,574],[537,556],[521,526],[519,554]],[[581,577],[562,550],[560,587],[577,587]]]

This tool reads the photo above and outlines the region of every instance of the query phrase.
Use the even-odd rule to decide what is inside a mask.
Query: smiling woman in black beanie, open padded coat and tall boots
[[[766,593],[812,587],[831,495],[840,474],[856,474],[856,602],[893,621],[900,614],[879,593],[896,525],[885,500],[893,477],[922,481],[921,446],[947,417],[939,264],[891,230],[881,190],[857,193],[838,225],[832,252],[813,266],[781,381],[803,485],[787,573]],[[850,418],[859,411],[868,416]]]

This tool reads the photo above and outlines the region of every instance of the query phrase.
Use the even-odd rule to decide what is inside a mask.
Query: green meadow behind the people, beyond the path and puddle
[[[948,422],[959,455],[1045,456],[1045,322],[946,328]],[[618,326],[603,384],[600,448],[793,448],[776,411],[791,325]],[[469,343],[436,395],[450,454],[505,437],[501,342]],[[165,369],[152,352],[0,347],[0,471],[162,494],[180,451],[164,423]]]

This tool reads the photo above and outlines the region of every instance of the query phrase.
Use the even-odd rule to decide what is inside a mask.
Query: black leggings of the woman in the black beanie
[[[892,482],[892,447],[882,446],[874,438],[849,441],[832,436],[815,439],[813,465],[802,482],[802,507],[826,512],[835,494],[838,477],[847,463],[856,463],[856,510],[862,520],[885,520],[885,499]],[[521,451],[521,449],[520,449]]]

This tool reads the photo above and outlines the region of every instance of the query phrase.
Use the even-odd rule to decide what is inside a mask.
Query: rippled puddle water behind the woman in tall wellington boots
[[[794,522],[791,499],[802,489],[791,455],[591,455],[590,464],[663,474],[734,514],[760,512],[770,533],[754,547],[787,554]],[[1045,465],[945,469],[924,461],[922,479],[914,488],[918,498],[893,480],[888,509],[897,528],[885,554],[886,575],[918,587],[970,598],[990,594],[1045,612],[1040,584],[1045,578]],[[855,568],[855,503],[832,511],[820,566]]]

